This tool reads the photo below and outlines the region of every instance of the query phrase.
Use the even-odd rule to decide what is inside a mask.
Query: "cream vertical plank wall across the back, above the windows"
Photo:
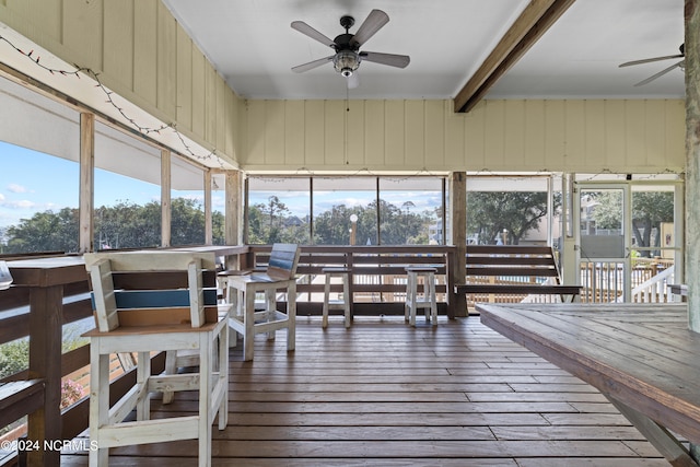
[[[349,109],[349,110],[348,110]],[[682,172],[680,100],[249,101],[245,170]]]

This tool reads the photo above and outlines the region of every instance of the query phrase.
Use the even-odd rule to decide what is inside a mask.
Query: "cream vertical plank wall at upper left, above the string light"
[[[243,101],[160,0],[4,0],[0,22],[235,163]],[[0,52],[12,59],[9,47]]]

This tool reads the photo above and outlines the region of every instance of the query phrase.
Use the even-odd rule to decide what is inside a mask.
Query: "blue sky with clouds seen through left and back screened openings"
[[[0,141],[0,229],[14,225],[21,219],[28,219],[36,212],[59,211],[62,208],[78,208],[79,165],[77,162],[47,155]],[[318,214],[332,206],[368,206],[376,196],[375,190],[352,189],[352,183],[341,178],[334,182],[338,189],[318,190],[314,194],[314,212]],[[346,185],[346,186],[343,186]],[[280,187],[282,188],[282,187]],[[279,196],[292,214],[304,217],[308,213],[307,191],[285,190],[254,191],[250,202],[265,202],[270,196]],[[161,189],[158,185],[135,178],[95,171],[95,206],[113,206],[118,202],[143,205],[159,201]],[[203,205],[201,191],[174,191],[173,197],[195,198]],[[439,191],[383,190],[382,197],[396,207],[407,200],[415,203],[412,212],[432,210],[441,203]],[[222,191],[212,195],[213,209],[223,211]]]

